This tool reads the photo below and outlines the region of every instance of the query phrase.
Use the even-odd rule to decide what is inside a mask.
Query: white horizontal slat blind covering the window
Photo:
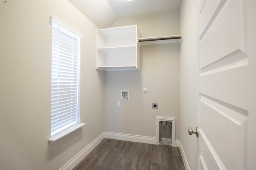
[[[80,121],[80,39],[52,21],[51,135]]]

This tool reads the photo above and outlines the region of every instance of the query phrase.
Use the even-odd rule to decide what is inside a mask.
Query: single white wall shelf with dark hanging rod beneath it
[[[182,35],[170,35],[162,37],[148,37],[148,38],[138,38],[140,45],[150,45],[150,44],[166,44],[166,43],[181,43]]]

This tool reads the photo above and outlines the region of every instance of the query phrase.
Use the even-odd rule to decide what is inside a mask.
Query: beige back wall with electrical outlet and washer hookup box
[[[126,25],[138,25],[141,37],[179,35],[179,12],[122,18],[111,27]],[[140,71],[105,72],[104,131],[156,137],[156,116],[176,117],[179,139],[179,49],[178,44],[141,46]],[[130,90],[130,101],[118,108],[121,90]]]

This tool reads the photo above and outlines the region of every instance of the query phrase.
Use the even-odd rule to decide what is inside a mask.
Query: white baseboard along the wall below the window
[[[81,162],[85,156],[87,156],[99,143],[104,139],[104,132],[100,134],[94,141],[92,141],[87,147],[81,150],[74,158],[66,163],[60,170],[72,170],[76,165]]]

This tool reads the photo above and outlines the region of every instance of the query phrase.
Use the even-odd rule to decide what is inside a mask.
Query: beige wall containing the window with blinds
[[[97,27],[70,2],[1,3],[1,169],[56,170],[103,132],[103,72],[95,69]],[[50,16],[83,34],[81,122],[49,145],[51,120]]]

